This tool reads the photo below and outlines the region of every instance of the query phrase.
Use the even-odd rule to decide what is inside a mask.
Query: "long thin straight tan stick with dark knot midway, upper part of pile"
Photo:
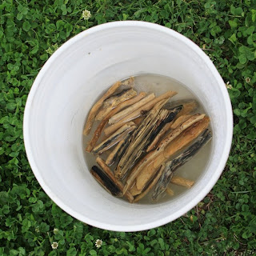
[[[166,99],[166,98],[171,98],[175,94],[177,94],[177,93],[174,92],[174,91],[168,91],[165,94],[162,94],[157,98],[154,98],[152,101],[150,101],[150,102],[146,103],[145,105],[139,107],[137,110],[134,110],[134,112],[126,115],[124,118],[122,118],[118,122],[114,123],[114,125],[111,125],[111,126],[107,127],[104,130],[104,133],[106,135],[112,134],[115,130],[118,130],[118,128],[120,128],[124,123],[129,122],[129,121],[133,120],[134,118],[138,118],[138,117],[142,116],[143,114],[145,114],[145,112],[148,112],[149,110],[151,110],[158,102],[160,102],[160,101],[162,101],[163,99]]]

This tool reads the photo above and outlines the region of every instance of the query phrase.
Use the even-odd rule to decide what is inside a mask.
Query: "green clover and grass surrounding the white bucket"
[[[34,178],[22,137],[27,94],[50,54],[82,30],[128,19],[170,27],[202,47],[234,109],[232,150],[214,189],[185,216],[137,233],[99,230],[59,209]],[[1,1],[0,255],[255,255],[255,21],[254,0]]]

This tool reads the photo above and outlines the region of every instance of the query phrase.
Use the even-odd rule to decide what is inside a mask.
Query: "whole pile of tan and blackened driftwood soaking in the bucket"
[[[110,194],[124,196],[129,202],[138,202],[153,187],[152,198],[156,200],[165,191],[173,194],[168,188],[169,183],[192,186],[193,181],[173,177],[173,174],[209,140],[208,131],[202,134],[209,118],[205,114],[190,115],[198,107],[194,100],[168,102],[175,92],[155,98],[154,94],[136,96],[135,90],[120,88],[131,84],[134,84],[134,78],[115,83],[90,110],[84,134],[89,134],[94,119],[102,122],[86,151],[102,154],[114,146],[106,161],[99,157],[96,159],[100,168],[93,166],[91,173]],[[110,126],[104,130],[106,136],[95,146],[107,122]],[[198,140],[180,154],[195,138]],[[170,161],[177,153],[178,157]],[[113,172],[109,166],[115,162],[118,164]]]

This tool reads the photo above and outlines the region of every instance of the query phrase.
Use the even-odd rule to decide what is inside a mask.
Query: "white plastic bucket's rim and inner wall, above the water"
[[[180,197],[156,205],[124,202],[106,193],[86,166],[82,130],[95,98],[119,79],[162,74],[197,94],[210,115],[213,146],[206,170]],[[232,141],[226,86],[190,39],[147,22],[110,22],[63,44],[35,79],[26,102],[24,140],[35,177],[74,218],[106,230],[136,231],[182,216],[218,181]]]

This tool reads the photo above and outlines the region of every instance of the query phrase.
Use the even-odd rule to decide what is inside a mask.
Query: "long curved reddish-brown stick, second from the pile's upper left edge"
[[[134,103],[140,101],[145,96],[146,96],[146,93],[141,92],[140,94],[138,94],[138,96],[131,98],[131,99],[127,100],[126,102],[120,103],[114,110],[111,110],[111,112],[109,114],[107,114],[106,117],[102,120],[102,122],[100,122],[100,124],[98,125],[97,129],[94,132],[93,138],[91,138],[90,142],[86,146],[86,151],[91,152],[91,150],[93,150],[96,142],[98,141],[98,138],[102,134],[103,128],[106,126],[110,117],[112,117],[114,114],[118,113],[118,111],[121,111],[125,107],[133,105]]]

